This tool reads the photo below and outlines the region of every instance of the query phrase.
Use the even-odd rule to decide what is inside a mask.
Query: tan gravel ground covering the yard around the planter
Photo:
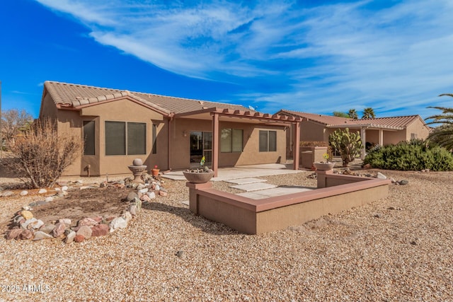
[[[109,236],[1,238],[0,301],[453,301],[453,173],[381,172],[409,184],[255,236],[194,216],[185,182],[166,180],[168,197]],[[265,179],[315,187],[309,174]],[[0,197],[0,224],[24,200]]]

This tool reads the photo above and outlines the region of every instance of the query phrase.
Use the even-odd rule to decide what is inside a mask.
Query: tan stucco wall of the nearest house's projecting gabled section
[[[51,110],[50,110],[51,111]],[[83,122],[94,120],[95,127],[95,152],[94,156],[81,156],[64,173],[64,175],[87,175],[86,166],[91,165],[91,175],[129,174],[127,165],[131,165],[134,158],[142,158],[148,170],[154,165],[167,168],[167,131],[166,121],[161,114],[142,105],[132,102],[127,98],[114,102],[101,103],[75,110],[59,110],[58,133],[59,135],[76,135],[83,139]],[[115,122],[143,122],[147,124],[147,153],[143,155],[105,156],[105,121]],[[152,150],[152,124],[157,125],[157,154]]]

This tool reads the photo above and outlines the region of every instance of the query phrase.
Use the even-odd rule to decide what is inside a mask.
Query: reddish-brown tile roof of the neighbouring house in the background
[[[280,110],[279,113],[287,113],[289,115],[306,118],[312,122],[318,122],[326,127],[345,127],[345,125],[369,127],[385,127],[385,128],[405,128],[421,119],[420,115],[407,115],[402,117],[377,117],[372,119],[354,120],[347,117],[334,117],[331,115],[319,115],[314,113],[298,112],[292,110]],[[423,121],[423,120],[422,120]],[[423,121],[423,123],[425,123]]]

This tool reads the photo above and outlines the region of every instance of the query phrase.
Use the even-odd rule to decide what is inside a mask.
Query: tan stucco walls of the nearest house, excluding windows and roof
[[[107,103],[91,105],[81,110],[57,110],[50,98],[45,98],[42,112],[46,115],[58,116],[59,135],[75,135],[83,139],[84,121],[95,121],[95,155],[81,156],[67,168],[64,175],[88,175],[86,168],[90,166],[91,175],[129,174],[128,165],[134,158],[142,158],[148,170],[158,165],[161,170],[183,169],[190,166],[190,132],[212,132],[211,120],[195,120],[188,118],[168,118],[138,103],[123,98]],[[147,124],[147,153],[144,155],[105,156],[105,121],[143,122]],[[168,136],[168,124],[171,133]],[[152,154],[152,124],[157,128],[157,153]],[[243,129],[243,151],[220,153],[219,166],[246,165],[258,163],[276,163],[286,161],[284,127],[257,126],[256,124],[238,122],[219,122],[219,131],[224,128]],[[259,130],[268,129],[277,132],[277,151],[259,152]],[[184,133],[186,134],[184,136]],[[171,139],[171,158],[168,165],[168,137]]]

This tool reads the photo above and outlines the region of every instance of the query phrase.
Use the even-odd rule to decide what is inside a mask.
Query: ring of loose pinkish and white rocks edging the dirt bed
[[[144,184],[137,184],[132,182],[132,179],[126,178],[117,182],[101,182],[99,186],[79,186],[79,190],[98,189],[99,187],[119,187],[120,189],[128,187],[136,190],[136,192],[131,191],[127,194],[126,202],[130,204],[120,216],[85,217],[76,223],[73,223],[74,221],[71,221],[71,219],[58,219],[55,224],[44,223],[42,220],[33,217],[33,209],[31,207],[39,207],[42,204],[53,201],[54,197],[47,197],[45,201],[32,202],[28,206],[24,206],[21,211],[15,214],[11,220],[12,228],[5,232],[6,239],[42,240],[62,238],[64,243],[79,243],[91,237],[106,236],[119,228],[126,228],[128,223],[137,217],[141,211],[142,202],[151,202],[151,199],[156,198],[156,194],[160,196],[167,196],[168,194],[162,187],[164,181],[153,178],[147,173],[144,173],[143,178]],[[81,182],[77,183],[81,185]],[[68,194],[67,190],[69,190],[69,187],[64,185],[58,189],[55,195],[56,198],[64,197]],[[25,194],[25,192],[21,192],[21,196],[28,194]],[[38,194],[46,192],[45,189],[41,189]]]

